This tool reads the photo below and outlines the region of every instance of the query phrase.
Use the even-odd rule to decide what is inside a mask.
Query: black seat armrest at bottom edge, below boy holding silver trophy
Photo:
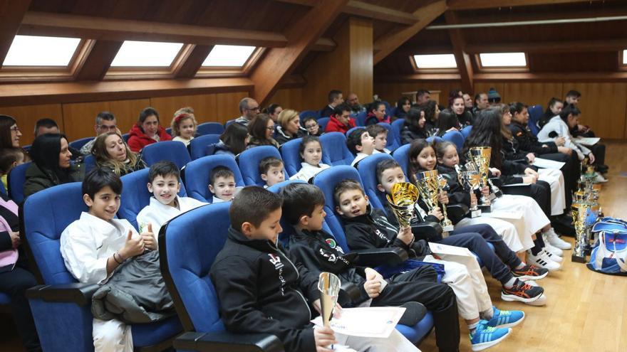
[[[283,343],[270,334],[232,334],[227,331],[186,332],[174,340],[174,348],[184,351],[283,352]]]

